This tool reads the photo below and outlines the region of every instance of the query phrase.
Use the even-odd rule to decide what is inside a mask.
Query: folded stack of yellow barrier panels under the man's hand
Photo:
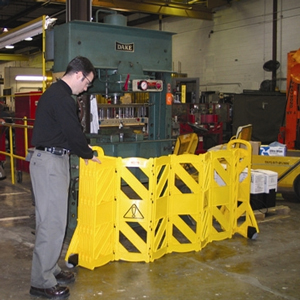
[[[78,224],[70,255],[79,254],[82,266],[93,269],[114,260],[116,158],[97,148],[101,165],[80,162]],[[75,251],[73,253],[73,251]]]

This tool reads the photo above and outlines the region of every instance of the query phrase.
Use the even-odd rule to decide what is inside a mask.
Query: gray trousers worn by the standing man
[[[31,286],[50,288],[61,271],[57,262],[67,224],[69,156],[35,150],[29,168],[36,214]]]

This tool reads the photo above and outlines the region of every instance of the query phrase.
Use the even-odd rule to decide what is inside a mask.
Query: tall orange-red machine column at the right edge
[[[278,141],[287,149],[300,149],[300,49],[287,57],[287,103],[285,126],[280,128]]]

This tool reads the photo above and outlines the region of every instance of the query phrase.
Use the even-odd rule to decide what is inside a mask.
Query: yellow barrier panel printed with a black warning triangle
[[[118,162],[115,259],[149,262],[153,158],[132,157]],[[139,176],[141,172],[143,176]],[[147,184],[139,180],[144,176]]]

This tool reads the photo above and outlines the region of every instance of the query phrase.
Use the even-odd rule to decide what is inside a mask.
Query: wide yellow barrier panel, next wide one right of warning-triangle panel
[[[167,212],[169,224],[168,252],[199,251],[201,230],[202,181],[206,176],[202,160],[205,155],[171,155],[170,192]],[[193,174],[191,175],[190,172]]]

